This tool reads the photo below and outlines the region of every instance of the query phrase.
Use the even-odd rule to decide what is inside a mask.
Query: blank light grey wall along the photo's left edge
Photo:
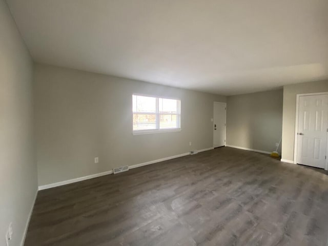
[[[0,0],[0,245],[10,222],[10,245],[22,243],[37,191],[32,76],[30,54]]]

